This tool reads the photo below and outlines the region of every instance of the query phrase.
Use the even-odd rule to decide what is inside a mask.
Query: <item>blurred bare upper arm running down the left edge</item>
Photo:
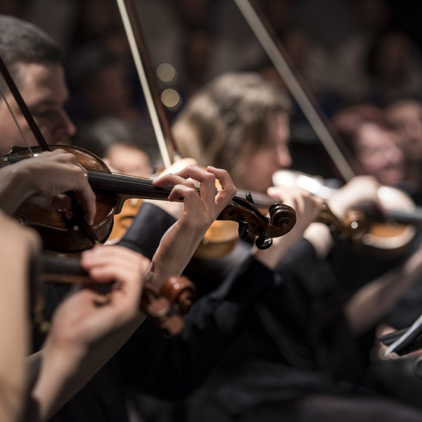
[[[29,269],[37,236],[0,212],[0,420],[18,421],[24,407],[29,350]]]

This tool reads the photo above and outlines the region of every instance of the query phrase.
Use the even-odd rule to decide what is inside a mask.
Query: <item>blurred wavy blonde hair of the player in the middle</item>
[[[182,157],[227,170],[235,183],[245,156],[267,137],[269,116],[288,113],[288,98],[256,73],[227,73],[205,85],[174,122]]]

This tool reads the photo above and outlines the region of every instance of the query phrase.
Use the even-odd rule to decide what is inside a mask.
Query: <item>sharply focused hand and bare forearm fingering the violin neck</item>
[[[199,192],[195,184],[200,183]],[[218,179],[222,189],[215,194]],[[153,272],[159,279],[181,274],[191,259],[205,232],[236,194],[231,177],[225,170],[208,167],[186,167],[176,174],[166,174],[153,182],[154,186],[173,186],[169,200],[183,198],[184,210],[177,222],[162,238],[153,257]]]

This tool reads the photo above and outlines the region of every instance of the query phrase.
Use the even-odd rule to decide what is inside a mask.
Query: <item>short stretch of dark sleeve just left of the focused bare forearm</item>
[[[141,252],[152,259],[162,236],[176,219],[151,203],[144,203],[119,245]]]

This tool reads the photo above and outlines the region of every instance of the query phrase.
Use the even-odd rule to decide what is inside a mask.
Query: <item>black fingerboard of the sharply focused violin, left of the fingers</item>
[[[113,191],[127,198],[166,200],[172,191],[171,186],[158,188],[152,179],[89,170],[89,184],[94,191]]]

